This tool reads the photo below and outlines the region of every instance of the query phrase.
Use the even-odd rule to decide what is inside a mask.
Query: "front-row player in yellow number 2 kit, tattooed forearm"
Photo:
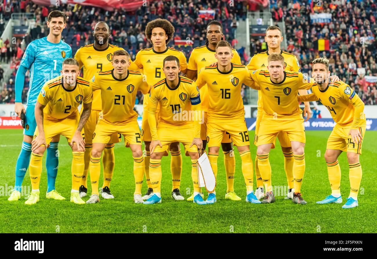
[[[43,153],[52,138],[57,135],[66,137],[72,148],[70,201],[85,204],[78,193],[84,172],[85,142],[81,132],[90,115],[93,93],[89,82],[79,77],[79,65],[75,59],[67,58],[63,61],[61,74],[43,85],[35,105],[37,129],[32,141],[29,169],[32,192],[25,204],[35,204],[39,201]],[[83,102],[84,106],[81,116],[77,110],[80,102]]]

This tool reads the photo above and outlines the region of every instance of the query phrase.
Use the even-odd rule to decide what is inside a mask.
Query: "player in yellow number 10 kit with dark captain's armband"
[[[144,204],[161,203],[161,158],[169,148],[170,143],[173,142],[181,142],[190,155],[191,176],[195,192],[198,193],[200,198],[197,203],[206,204],[199,194],[201,192],[196,171],[198,149],[203,146],[200,139],[199,89],[194,81],[178,76],[181,68],[176,56],[164,58],[162,71],[166,78],[153,85],[148,104],[148,122],[152,134],[149,177],[153,195],[147,201],[144,201]],[[157,126],[156,109],[158,104],[160,110]]]

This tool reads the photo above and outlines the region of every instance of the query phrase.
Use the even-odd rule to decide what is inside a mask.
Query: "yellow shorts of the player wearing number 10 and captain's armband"
[[[198,152],[198,147],[190,145],[194,139],[194,126],[190,123],[182,126],[157,126],[158,139],[162,148],[157,146],[154,152],[165,152],[169,150],[171,143],[180,142],[184,145],[186,152]]]

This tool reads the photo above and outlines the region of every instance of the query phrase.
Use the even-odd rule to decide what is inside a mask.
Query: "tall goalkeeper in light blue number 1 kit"
[[[31,155],[31,142],[37,126],[34,117],[34,107],[37,102],[38,93],[43,84],[52,78],[60,75],[61,64],[65,58],[72,56],[71,47],[61,40],[61,32],[66,27],[66,15],[61,11],[52,11],[48,15],[47,27],[50,32],[47,37],[32,41],[26,48],[25,54],[17,70],[15,80],[15,107],[14,111],[18,117],[25,113],[21,102],[21,94],[25,81],[25,73],[30,70],[30,83],[28,92],[28,103],[25,114],[25,129],[22,148],[16,164],[16,181],[14,192],[8,198],[9,201],[17,201],[21,197],[21,185],[29,167]],[[64,200],[55,190],[55,180],[58,173],[58,143],[60,136],[52,136],[47,148],[47,193],[46,198]]]

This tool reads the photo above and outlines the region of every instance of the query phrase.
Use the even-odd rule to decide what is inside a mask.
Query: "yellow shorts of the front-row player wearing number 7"
[[[287,134],[289,141],[305,143],[304,119],[263,117],[259,124],[258,134],[254,137],[256,146],[273,144],[280,132]]]

